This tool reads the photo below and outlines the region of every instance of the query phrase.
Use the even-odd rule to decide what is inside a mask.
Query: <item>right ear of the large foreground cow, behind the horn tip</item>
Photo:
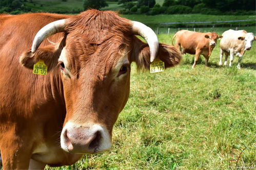
[[[150,50],[148,44],[139,39],[133,41],[133,51],[131,60],[135,61],[137,69],[149,70],[150,65]],[[165,67],[172,67],[180,63],[182,55],[174,46],[159,44],[159,51],[156,58],[164,61]]]

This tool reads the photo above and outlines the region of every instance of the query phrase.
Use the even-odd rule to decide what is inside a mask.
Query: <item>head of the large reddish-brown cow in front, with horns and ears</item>
[[[57,32],[64,32],[58,43],[38,48]],[[49,70],[61,74],[67,110],[61,147],[93,154],[111,147],[113,125],[129,96],[131,62],[149,69],[155,58],[171,67],[180,62],[181,54],[159,44],[155,33],[140,22],[111,11],[88,10],[42,28],[20,62],[32,68],[43,59]]]

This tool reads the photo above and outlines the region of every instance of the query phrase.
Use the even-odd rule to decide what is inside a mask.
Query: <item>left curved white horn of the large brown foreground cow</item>
[[[31,52],[35,53],[38,46],[42,43],[42,41],[45,38],[59,32],[64,32],[65,26],[66,26],[66,19],[56,20],[51,23],[48,23],[48,25],[46,25],[36,33],[35,38],[33,40],[32,47],[31,47]]]

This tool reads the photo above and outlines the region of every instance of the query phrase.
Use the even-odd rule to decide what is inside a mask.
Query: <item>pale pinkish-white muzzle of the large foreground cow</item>
[[[61,147],[70,153],[97,154],[110,150],[111,136],[101,125],[68,122],[61,133]]]

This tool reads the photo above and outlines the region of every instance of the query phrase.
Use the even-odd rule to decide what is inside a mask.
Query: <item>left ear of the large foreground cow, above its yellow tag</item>
[[[35,63],[37,63],[39,60],[43,60],[47,65],[48,71],[50,71],[58,64],[58,58],[61,55],[62,48],[63,43],[56,43],[40,47],[35,53],[32,53],[31,50],[29,50],[24,52],[21,57],[19,57],[19,63],[21,63],[24,67],[33,69]]]

